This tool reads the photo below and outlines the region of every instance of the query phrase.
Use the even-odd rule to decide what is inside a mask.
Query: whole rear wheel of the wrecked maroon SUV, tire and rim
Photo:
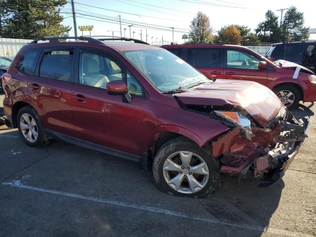
[[[42,146],[48,141],[40,116],[31,106],[23,107],[17,116],[17,126],[23,141],[32,147]]]

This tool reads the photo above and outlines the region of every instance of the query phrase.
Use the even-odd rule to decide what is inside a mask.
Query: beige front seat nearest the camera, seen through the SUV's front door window
[[[92,58],[83,59],[83,83],[86,85],[92,85],[95,87],[106,87],[109,79],[100,74],[99,64]]]

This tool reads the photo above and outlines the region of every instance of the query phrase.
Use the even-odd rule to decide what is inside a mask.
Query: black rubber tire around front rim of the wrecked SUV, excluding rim
[[[195,192],[190,194],[185,194],[176,191],[171,188],[164,176],[163,176],[163,165],[165,160],[172,154],[179,151],[188,151],[195,153],[197,156],[202,158],[207,165],[209,171],[209,177],[205,186]],[[158,188],[165,193],[182,196],[182,197],[202,197],[207,194],[211,194],[219,184],[219,173],[220,164],[217,159],[211,158],[210,149],[200,148],[197,144],[193,143],[191,140],[184,137],[176,137],[167,141],[159,150],[154,159],[153,163],[153,173],[155,181],[158,185]]]

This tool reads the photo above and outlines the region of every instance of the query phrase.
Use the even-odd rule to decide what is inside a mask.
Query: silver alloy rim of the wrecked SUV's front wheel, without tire
[[[180,151],[164,161],[163,177],[177,192],[193,194],[205,187],[209,171],[206,162],[197,154]]]

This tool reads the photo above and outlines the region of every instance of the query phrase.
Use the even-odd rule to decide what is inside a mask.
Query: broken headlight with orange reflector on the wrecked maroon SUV
[[[247,139],[251,140],[253,137],[251,131],[251,121],[249,118],[243,116],[239,112],[229,112],[229,111],[214,111],[217,116],[225,118],[226,120],[237,125],[242,131],[245,132]]]

